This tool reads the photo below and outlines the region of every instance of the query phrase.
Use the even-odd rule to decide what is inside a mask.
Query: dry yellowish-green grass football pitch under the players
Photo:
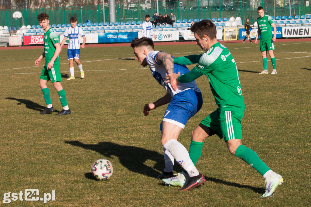
[[[70,76],[67,49],[60,54],[62,85],[72,114],[40,115],[45,107],[39,87],[42,49],[0,50],[0,206],[309,206],[311,163],[311,42],[275,42],[276,75],[259,75],[259,45],[224,44],[239,70],[245,101],[243,143],[253,149],[284,183],[273,197],[261,199],[264,179],[231,155],[216,135],[204,141],[197,169],[204,186],[180,192],[163,186],[159,125],[166,106],[144,116],[142,108],[165,90],[134,59],[130,46],[81,49],[85,78]],[[175,57],[201,54],[197,45],[156,45]],[[270,60],[270,58],[268,58]],[[192,69],[194,65],[188,66]],[[268,61],[272,72],[271,61]],[[179,136],[187,149],[191,131],[217,106],[206,77],[197,79],[203,107]],[[62,110],[48,82],[53,107]],[[114,173],[108,181],[92,179],[91,166],[108,159]],[[174,171],[181,168],[175,163]],[[55,191],[55,200],[11,201],[7,192]],[[12,197],[11,197],[12,198]]]

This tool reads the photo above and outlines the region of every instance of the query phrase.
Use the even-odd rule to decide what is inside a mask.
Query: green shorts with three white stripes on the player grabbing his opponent
[[[244,112],[220,111],[219,108],[208,115],[201,124],[211,128],[220,139],[225,141],[230,139],[242,140],[241,121]]]

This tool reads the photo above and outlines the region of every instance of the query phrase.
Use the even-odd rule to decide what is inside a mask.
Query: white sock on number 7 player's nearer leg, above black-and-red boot
[[[169,140],[163,147],[173,155],[176,162],[188,172],[190,177],[199,175],[199,171],[191,161],[187,149],[176,139]]]

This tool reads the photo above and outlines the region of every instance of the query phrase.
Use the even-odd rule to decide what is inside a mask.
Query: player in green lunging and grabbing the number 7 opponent
[[[244,115],[244,100],[235,61],[229,50],[217,41],[216,26],[210,20],[194,23],[191,31],[194,33],[197,45],[207,52],[174,58],[175,64],[197,63],[190,72],[183,75],[174,74],[174,77],[180,83],[186,83],[206,75],[218,109],[193,130],[189,149],[190,158],[195,164],[201,156],[203,140],[217,134],[220,139],[224,138],[230,153],[244,160],[266,179],[266,192],[261,197],[272,196],[276,187],[283,183],[282,176],[270,170],[257,153],[242,145],[241,121]],[[185,187],[189,185],[191,178],[187,182],[184,175],[185,173],[182,172],[162,181],[167,185]]]

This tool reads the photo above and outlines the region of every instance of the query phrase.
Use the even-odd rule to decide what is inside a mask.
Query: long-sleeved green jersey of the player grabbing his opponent
[[[197,58],[193,55],[190,56],[192,62],[198,64],[188,72],[189,74],[185,73],[179,76],[179,82],[190,81],[191,74],[195,78],[204,74],[210,82],[212,94],[220,111],[244,112],[245,105],[238,68],[229,50],[217,42],[202,56],[197,55]],[[198,57],[200,57],[199,60]],[[174,63],[183,64],[178,58],[175,59]],[[190,61],[185,62],[189,63]]]

